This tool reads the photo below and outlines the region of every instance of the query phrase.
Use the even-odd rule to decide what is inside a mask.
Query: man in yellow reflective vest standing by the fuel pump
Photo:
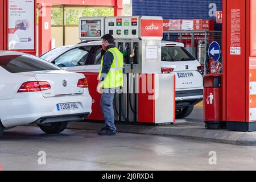
[[[97,92],[101,93],[101,110],[105,119],[105,127],[99,135],[115,135],[114,94],[123,86],[123,55],[114,46],[114,38],[110,34],[102,36],[102,49],[105,53],[101,60],[101,69]]]

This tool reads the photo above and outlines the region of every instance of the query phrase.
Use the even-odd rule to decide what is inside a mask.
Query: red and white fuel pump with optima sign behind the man
[[[110,34],[123,53],[123,88],[114,97],[116,121],[152,124],[175,121],[175,75],[161,73],[160,66],[162,23],[159,16],[80,18],[82,41],[101,40],[102,35]],[[91,29],[87,31],[90,35],[82,32],[85,27]],[[100,110],[101,95],[96,92],[98,73],[85,71],[84,75],[94,101],[88,119],[104,120]]]

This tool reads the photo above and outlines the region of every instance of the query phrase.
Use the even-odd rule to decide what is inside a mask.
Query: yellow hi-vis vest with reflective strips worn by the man
[[[118,88],[119,86],[123,86],[123,54],[116,47],[110,48],[108,49],[108,51],[113,54],[114,60],[110,67],[108,75],[103,81],[102,88]],[[103,60],[104,56],[102,56],[101,59],[100,76],[103,66]]]

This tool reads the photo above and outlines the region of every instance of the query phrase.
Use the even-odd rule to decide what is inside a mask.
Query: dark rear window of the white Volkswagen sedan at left
[[[10,73],[60,70],[55,65],[32,55],[0,56],[0,66]]]

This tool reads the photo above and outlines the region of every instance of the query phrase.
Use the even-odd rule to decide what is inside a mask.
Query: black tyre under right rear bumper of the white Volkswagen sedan
[[[51,125],[39,125],[40,129],[47,134],[58,134],[66,129],[68,122],[51,123]]]

